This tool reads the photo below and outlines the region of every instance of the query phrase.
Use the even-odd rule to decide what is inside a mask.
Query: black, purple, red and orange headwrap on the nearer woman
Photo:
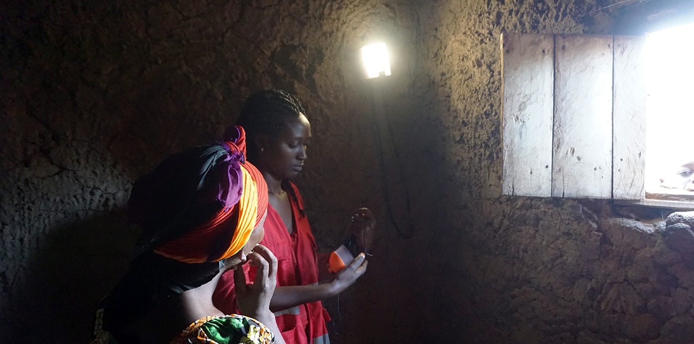
[[[153,250],[186,263],[219,261],[248,242],[267,209],[267,184],[246,161],[246,133],[172,155],[133,185],[128,214]]]

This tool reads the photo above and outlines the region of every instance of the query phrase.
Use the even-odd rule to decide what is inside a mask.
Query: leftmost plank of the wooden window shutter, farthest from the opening
[[[549,197],[553,35],[502,35],[502,193]]]

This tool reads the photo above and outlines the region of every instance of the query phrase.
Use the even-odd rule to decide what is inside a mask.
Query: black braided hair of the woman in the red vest
[[[306,115],[306,112],[298,98],[281,89],[260,91],[248,97],[236,120],[236,125],[246,130],[248,161],[255,162],[260,156],[260,147],[257,146],[255,137],[258,135],[276,137],[287,123],[298,119],[301,114]],[[282,180],[282,189],[294,200],[295,204],[298,204],[298,198],[289,180]],[[305,216],[304,209],[300,208],[299,212]]]

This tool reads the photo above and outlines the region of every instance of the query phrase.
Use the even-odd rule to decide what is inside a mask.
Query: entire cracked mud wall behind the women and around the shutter
[[[369,272],[326,302],[335,343],[692,343],[687,216],[500,196],[499,34],[609,33],[611,3],[3,4],[0,334],[86,341],[132,182],[279,87],[312,121],[319,246],[355,207],[379,219]],[[393,76],[364,80],[377,39]]]

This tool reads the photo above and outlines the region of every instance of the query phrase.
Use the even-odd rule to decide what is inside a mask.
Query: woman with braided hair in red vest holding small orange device
[[[282,337],[291,344],[329,344],[328,312],[321,300],[335,296],[366,272],[365,252],[373,241],[375,219],[369,209],[357,209],[350,222],[355,235],[356,258],[330,275],[319,259],[303,200],[294,180],[303,169],[311,126],[296,96],[279,89],[257,92],[241,110],[237,124],[248,135],[248,160],[262,172],[268,183],[268,215],[261,242],[277,256],[277,289],[270,303]],[[224,138],[234,135],[230,127]],[[321,261],[321,263],[319,263]],[[257,271],[244,268],[248,278]],[[319,275],[330,280],[319,284]],[[239,284],[222,275],[214,291],[214,304],[225,312],[237,311]]]

